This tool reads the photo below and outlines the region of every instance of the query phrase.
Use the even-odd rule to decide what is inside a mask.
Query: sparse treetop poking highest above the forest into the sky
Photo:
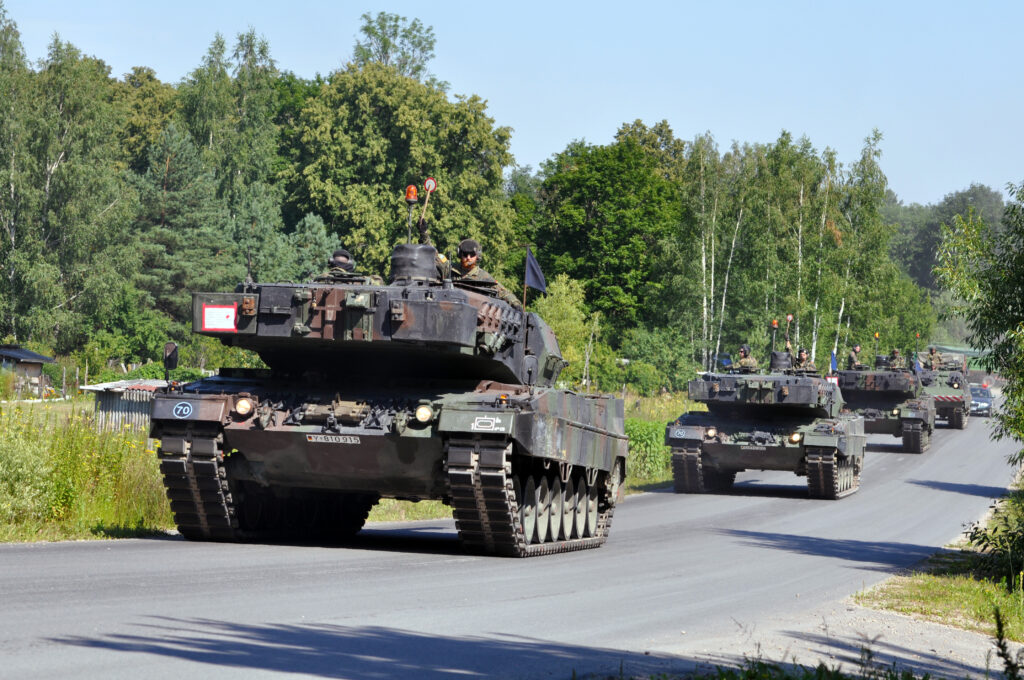
[[[397,14],[378,12],[372,16],[367,12],[359,33],[364,40],[356,41],[352,49],[356,67],[380,63],[394,68],[400,76],[439,85],[427,71],[427,62],[434,58],[433,27],[424,27],[418,18],[410,23]]]

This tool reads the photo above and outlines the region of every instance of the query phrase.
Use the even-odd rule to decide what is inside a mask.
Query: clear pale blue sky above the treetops
[[[573,139],[668,120],[720,147],[781,130],[856,160],[872,128],[904,203],[1024,181],[1024,2],[238,2],[2,0],[29,57],[53,33],[120,76],[195,69],[216,32],[252,27],[279,68],[327,75],[351,56],[364,12],[432,26],[451,92],[488,102],[537,169]]]

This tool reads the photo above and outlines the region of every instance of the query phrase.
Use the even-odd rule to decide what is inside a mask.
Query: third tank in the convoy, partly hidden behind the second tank
[[[838,373],[846,406],[864,417],[864,432],[903,439],[903,451],[923,454],[935,429],[935,399],[925,394],[921,379],[906,369],[893,368],[889,357],[874,357],[874,370]]]

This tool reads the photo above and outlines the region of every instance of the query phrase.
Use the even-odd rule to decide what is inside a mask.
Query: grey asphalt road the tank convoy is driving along
[[[618,677],[737,635],[820,637],[804,620],[940,549],[1013,476],[982,419],[924,455],[898,441],[869,439],[842,501],[746,472],[726,496],[630,497],[603,548],[552,557],[465,555],[451,521],[340,548],[0,546],[0,678]]]

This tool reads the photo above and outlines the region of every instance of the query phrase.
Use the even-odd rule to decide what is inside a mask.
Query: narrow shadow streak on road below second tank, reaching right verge
[[[721,529],[720,534],[734,536],[757,548],[775,548],[804,555],[838,557],[851,562],[861,562],[874,571],[896,571],[935,554],[934,546],[912,543],[854,541],[851,539],[821,539],[795,534],[771,534],[743,529]]]

